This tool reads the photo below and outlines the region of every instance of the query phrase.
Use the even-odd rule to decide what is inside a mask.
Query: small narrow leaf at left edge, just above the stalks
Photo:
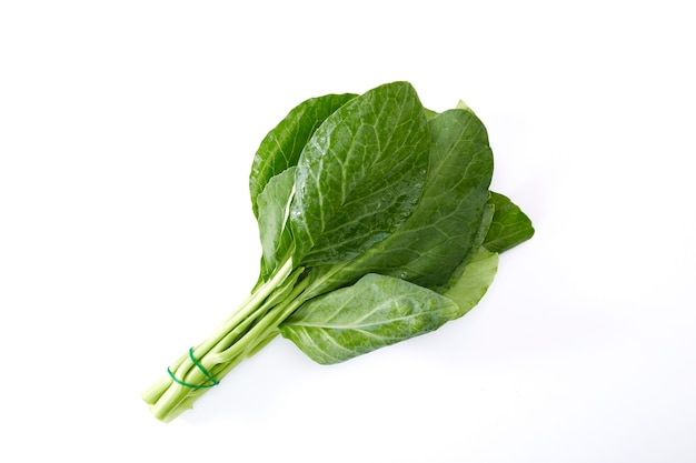
[[[295,187],[295,170],[291,167],[271,178],[259,194],[257,203],[261,249],[261,280],[266,280],[289,256],[292,235],[286,227]]]

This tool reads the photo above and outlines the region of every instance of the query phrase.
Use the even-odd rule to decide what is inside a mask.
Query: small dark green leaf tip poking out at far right
[[[501,253],[534,235],[531,220],[509,198],[491,192],[489,201],[496,209],[484,241],[487,250]]]

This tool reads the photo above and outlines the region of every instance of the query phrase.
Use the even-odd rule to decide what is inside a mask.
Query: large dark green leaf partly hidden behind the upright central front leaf
[[[311,276],[322,289],[349,284],[365,273],[437,289],[480,245],[493,212],[487,205],[493,153],[486,129],[465,110],[446,111],[429,125],[430,169],[412,214],[354,260],[314,269]]]

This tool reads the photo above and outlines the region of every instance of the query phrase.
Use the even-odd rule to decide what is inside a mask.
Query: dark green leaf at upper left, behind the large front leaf
[[[257,198],[268,181],[297,164],[302,148],[321,122],[355,97],[352,93],[327,94],[306,100],[268,132],[253,157],[249,174],[249,192],[256,217],[258,217]]]

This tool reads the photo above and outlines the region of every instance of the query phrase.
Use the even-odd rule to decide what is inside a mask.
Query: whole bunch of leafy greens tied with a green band
[[[249,187],[258,282],[143,393],[168,422],[278,334],[331,364],[434,331],[486,293],[529,219],[490,192],[493,153],[466,105],[436,113],[408,82],[309,99],[271,130]]]

